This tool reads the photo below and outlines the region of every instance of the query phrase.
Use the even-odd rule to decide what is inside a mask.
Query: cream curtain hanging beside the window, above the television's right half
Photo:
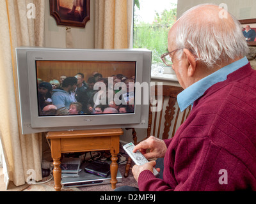
[[[133,0],[95,0],[95,48],[132,48]]]

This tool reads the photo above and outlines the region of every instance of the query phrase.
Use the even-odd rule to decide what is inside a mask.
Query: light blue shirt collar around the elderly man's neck
[[[212,85],[218,82],[223,82],[227,80],[227,75],[236,71],[237,69],[248,64],[248,59],[246,57],[239,59],[239,61],[228,64],[227,66],[215,71],[211,75],[202,78],[198,82],[195,82],[184,91],[180,92],[177,96],[177,102],[179,104],[181,112],[183,112],[189,105],[193,106],[196,99],[200,98],[204,92],[209,89]]]

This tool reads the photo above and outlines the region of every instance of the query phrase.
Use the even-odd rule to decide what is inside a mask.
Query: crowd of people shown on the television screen
[[[84,80],[83,73],[49,82],[38,78],[40,115],[81,115],[134,112],[134,77],[122,74]]]

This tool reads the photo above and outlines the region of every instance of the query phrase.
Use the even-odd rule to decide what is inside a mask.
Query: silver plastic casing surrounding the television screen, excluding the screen
[[[20,47],[16,48],[16,52],[22,134],[76,129],[147,128],[149,104],[147,101],[145,103],[147,96],[143,95],[142,91],[137,91],[140,87],[136,87],[134,113],[40,116],[37,101],[36,61],[135,61],[136,82],[139,84],[147,82],[149,93],[150,50]],[[143,104],[140,104],[140,101],[138,103],[136,99],[144,99]]]

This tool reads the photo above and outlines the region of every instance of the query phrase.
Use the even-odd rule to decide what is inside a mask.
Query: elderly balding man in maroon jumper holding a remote
[[[163,61],[184,88],[180,109],[193,108],[173,138],[151,136],[134,148],[164,157],[163,179],[152,173],[155,161],[133,166],[140,191],[256,191],[256,71],[241,25],[219,13],[196,6],[170,30]]]

